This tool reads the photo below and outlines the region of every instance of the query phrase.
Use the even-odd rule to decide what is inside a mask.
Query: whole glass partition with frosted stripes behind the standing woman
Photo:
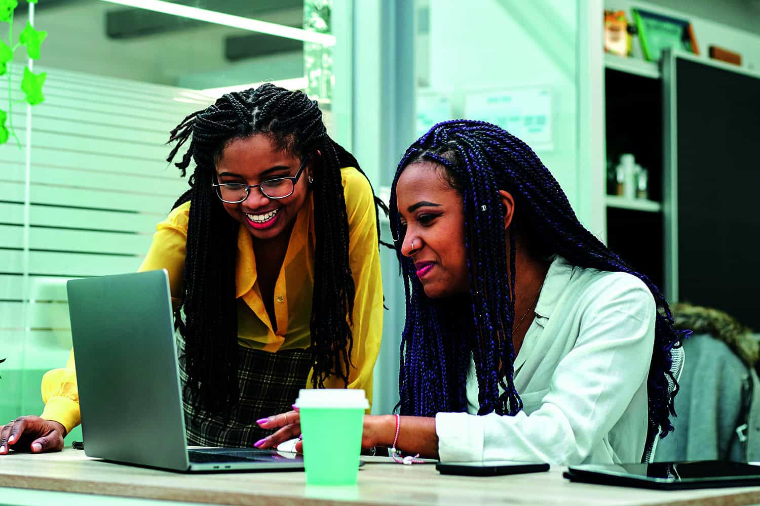
[[[14,102],[24,99],[23,48],[10,80],[0,76],[0,110],[10,89],[18,137],[0,145],[0,420],[40,413],[43,373],[66,363],[65,281],[135,271],[187,189],[166,163],[182,118],[262,81],[316,95],[329,130],[334,105],[350,109],[350,96],[331,96],[342,67],[313,42],[335,39],[331,0],[182,0],[163,2],[165,11],[130,3],[19,2],[14,12],[9,46],[27,21],[46,31],[33,62],[46,77],[27,124],[27,105]],[[350,26],[346,12],[340,22]],[[0,23],[6,43],[9,26]],[[312,42],[299,39],[309,33]],[[67,442],[78,438],[76,429]]]

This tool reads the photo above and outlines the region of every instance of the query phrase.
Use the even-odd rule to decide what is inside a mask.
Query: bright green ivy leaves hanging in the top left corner
[[[36,4],[37,0],[27,0],[30,4]],[[13,99],[13,86],[11,84],[11,68],[13,66],[13,55],[21,46],[27,48],[27,55],[32,60],[40,59],[40,46],[47,36],[47,32],[35,30],[27,21],[27,26],[21,30],[18,41],[14,43],[13,39],[13,13],[18,6],[18,0],[0,0],[0,24],[8,24],[8,43],[0,38],[0,76],[8,76],[8,111],[0,108],[0,144],[3,144],[11,138],[16,140],[16,144],[21,149],[21,141],[18,140],[16,131],[13,128],[13,105],[14,103],[27,103],[37,105],[45,100],[43,96],[43,84],[47,77],[46,72],[34,74],[29,66],[24,68],[24,77],[21,78],[21,91],[24,92],[24,99]],[[6,125],[6,121],[8,124]],[[0,360],[2,362],[2,360]]]

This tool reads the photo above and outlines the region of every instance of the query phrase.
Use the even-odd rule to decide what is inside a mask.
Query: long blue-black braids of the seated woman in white
[[[448,182],[464,203],[465,247],[470,294],[433,300],[416,278],[413,260],[401,254],[404,230],[396,203],[401,172],[414,162],[442,165]],[[662,293],[610,251],[575,216],[567,196],[527,144],[494,124],[454,120],[436,124],[416,140],[398,164],[391,187],[391,232],[404,277],[406,322],[401,340],[399,391],[401,414],[435,416],[467,410],[467,368],[473,354],[480,391],[478,414],[515,415],[522,401],[514,382],[515,234],[506,234],[501,197],[515,199],[515,226],[543,255],[559,254],[575,266],[628,272],[644,281],[655,303],[654,350],[648,376],[649,431],[673,430],[670,350],[687,332],[673,327]],[[509,258],[506,241],[509,240]],[[668,379],[676,383],[668,390]],[[502,394],[499,394],[499,386]]]

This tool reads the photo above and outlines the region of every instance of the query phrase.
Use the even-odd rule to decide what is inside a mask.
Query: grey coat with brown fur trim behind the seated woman
[[[676,395],[675,432],[654,460],[760,460],[760,345],[723,311],[676,304],[677,328],[694,333]]]

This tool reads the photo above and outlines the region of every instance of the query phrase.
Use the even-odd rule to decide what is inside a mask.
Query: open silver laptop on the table
[[[67,283],[84,452],[189,471],[303,470],[300,455],[187,448],[166,270]]]

